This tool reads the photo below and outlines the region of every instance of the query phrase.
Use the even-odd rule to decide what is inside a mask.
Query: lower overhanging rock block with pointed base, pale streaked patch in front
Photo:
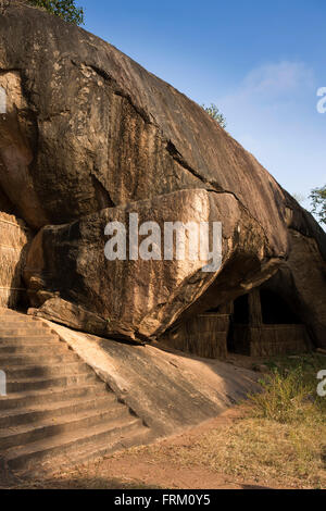
[[[156,222],[162,234],[164,222],[176,219],[186,224],[189,219],[200,223],[223,217],[222,267],[205,273],[202,267],[209,261],[108,261],[105,225],[114,221],[128,225],[130,212],[138,213],[139,224]],[[160,251],[163,257],[163,239]],[[223,302],[243,292],[246,281],[252,286],[273,275],[277,263],[271,258],[262,228],[231,195],[222,198],[213,191],[191,189],[104,209],[72,224],[42,228],[28,252],[24,276],[34,306],[42,306],[38,315],[61,317],[75,328],[111,337],[148,339],[159,336],[177,320],[216,275],[233,269],[231,278],[221,281],[218,299]],[[46,294],[45,301],[45,291],[50,291],[53,298],[47,300]],[[90,328],[89,316],[83,319],[76,308],[71,311],[63,300],[105,319],[105,332],[102,325],[100,329]]]

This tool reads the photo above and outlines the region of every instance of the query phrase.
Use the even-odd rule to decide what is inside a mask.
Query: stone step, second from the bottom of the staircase
[[[64,433],[74,432],[78,435],[78,429],[92,426],[110,425],[110,421],[123,421],[129,416],[127,407],[116,403],[117,407],[110,407],[108,410],[89,410],[80,413],[73,413],[62,417],[53,417],[40,421],[36,424],[24,424],[16,427],[7,427],[0,429],[0,450],[16,446],[26,446],[27,444],[42,440],[45,438],[59,436]]]

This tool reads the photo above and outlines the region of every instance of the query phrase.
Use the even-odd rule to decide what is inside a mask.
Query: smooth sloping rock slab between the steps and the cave
[[[47,323],[154,433],[175,434],[259,390],[258,375],[242,367]]]

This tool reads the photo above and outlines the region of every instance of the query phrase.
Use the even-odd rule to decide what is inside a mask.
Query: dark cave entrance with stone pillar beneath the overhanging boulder
[[[255,288],[234,302],[175,324],[162,338],[173,348],[204,358],[302,353],[310,348],[305,326],[277,292]]]

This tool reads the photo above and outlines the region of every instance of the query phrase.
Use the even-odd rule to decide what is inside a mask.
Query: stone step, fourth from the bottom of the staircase
[[[27,407],[47,407],[48,403],[64,402],[72,399],[97,399],[110,395],[103,382],[70,386],[67,388],[32,390],[0,397],[0,410],[21,410]]]

